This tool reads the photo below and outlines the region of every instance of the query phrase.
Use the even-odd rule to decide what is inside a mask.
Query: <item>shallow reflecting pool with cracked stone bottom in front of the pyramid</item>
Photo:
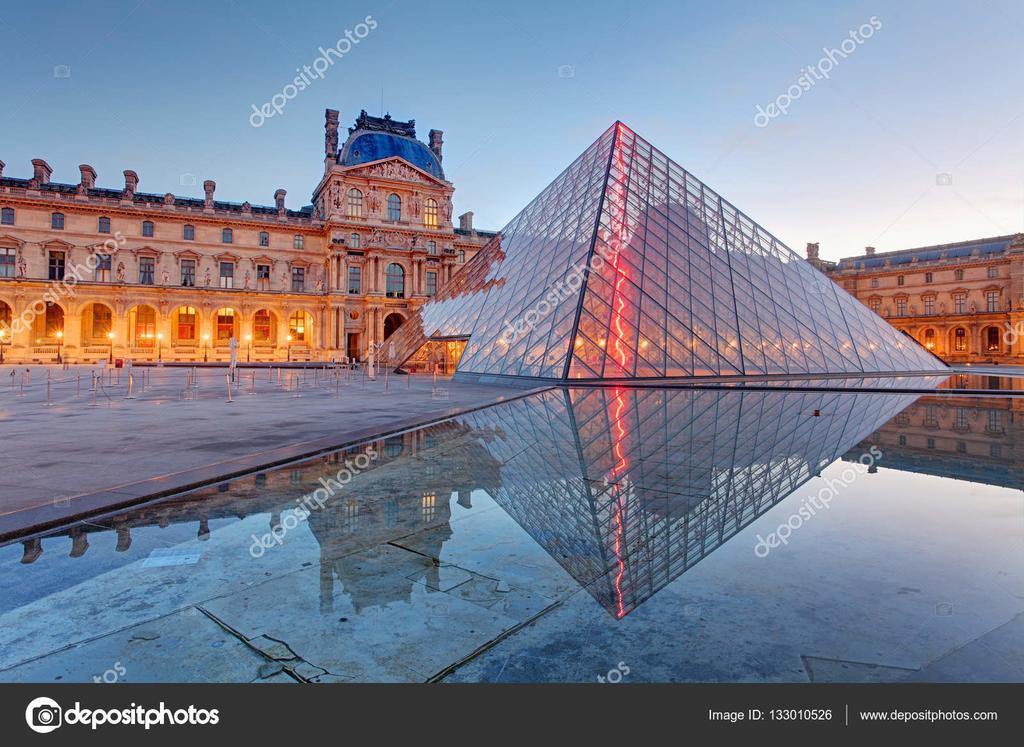
[[[1021,680],[986,383],[552,388],[27,538],[0,680]]]

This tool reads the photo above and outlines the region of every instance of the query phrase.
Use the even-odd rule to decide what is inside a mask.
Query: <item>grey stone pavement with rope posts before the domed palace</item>
[[[243,368],[228,403],[225,368],[136,367],[129,400],[125,373],[93,391],[93,367],[26,370],[0,367],[0,540],[523,393]]]

